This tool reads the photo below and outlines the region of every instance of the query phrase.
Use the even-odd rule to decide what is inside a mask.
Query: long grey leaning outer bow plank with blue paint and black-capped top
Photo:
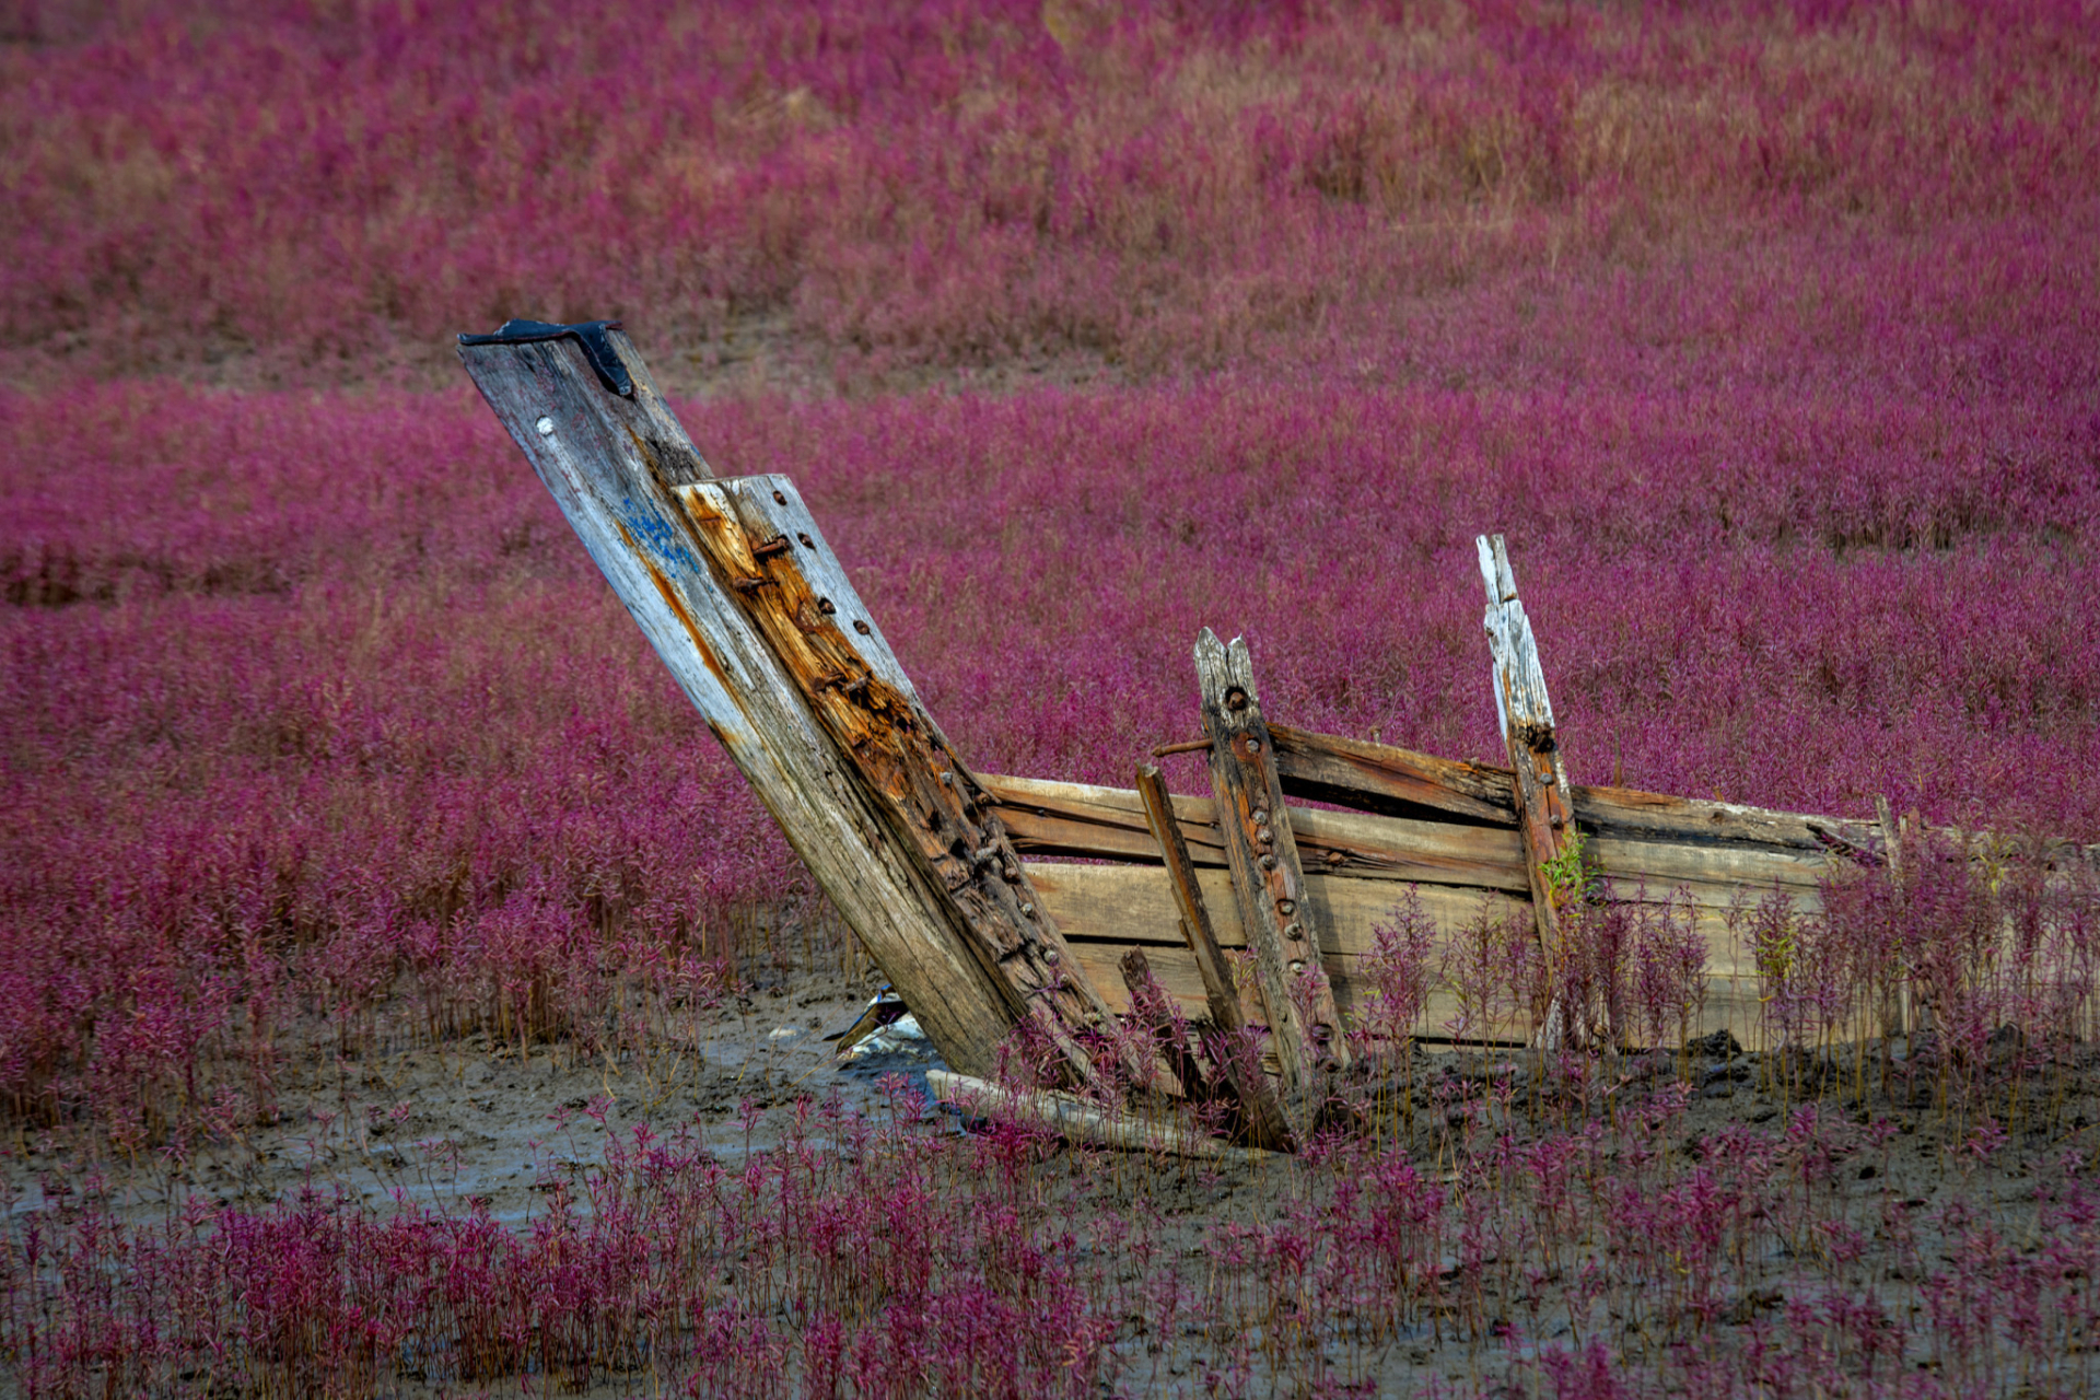
[[[941,892],[882,837],[874,798],[817,724],[764,638],[724,596],[672,500],[712,476],[626,336],[609,336],[632,397],[607,393],[573,340],[462,346],[475,386],[584,548],[729,749],[796,854],[911,1001],[949,1064],[995,1068],[1006,997],[932,913]],[[836,604],[857,609],[850,586]],[[863,659],[882,663],[880,636]],[[895,665],[895,657],[888,657]]]

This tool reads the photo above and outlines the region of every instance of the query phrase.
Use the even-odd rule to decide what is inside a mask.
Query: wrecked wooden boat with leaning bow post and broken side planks
[[[657,655],[966,1077],[989,1079],[1021,1028],[1065,1089],[1128,1083],[1100,1062],[1128,1056],[1128,1037],[1102,1026],[1161,1031],[1178,1010],[1260,1028],[1262,1056],[1176,1070],[1186,1045],[1161,1031],[1170,1085],[1228,1094],[1245,1142],[1302,1142],[1323,1075],[1348,1068],[1376,928],[1409,888],[1438,934],[1485,911],[1529,917],[1554,949],[1550,877],[1571,856],[1688,907],[1707,984],[1684,1031],[1756,1045],[1758,970],[1730,911],[1774,892],[1814,911],[1831,861],[1896,850],[1886,810],[1848,823],[1571,785],[1499,535],[1478,554],[1508,766],[1294,728],[1264,712],[1247,644],[1203,632],[1201,737],[1153,756],[1205,754],[1210,798],[1170,796],[1155,766],[1130,789],[976,772],[794,483],[714,476],[617,321],[512,321],[460,342]],[[1432,997],[1418,1028],[1447,1016],[1449,995]],[[1556,1016],[1499,1031],[1550,1041]]]

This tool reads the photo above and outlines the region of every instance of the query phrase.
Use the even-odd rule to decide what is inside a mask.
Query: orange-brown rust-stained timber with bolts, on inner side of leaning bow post
[[[903,852],[943,898],[930,900],[1025,1018],[1090,1073],[1079,1037],[1107,1003],[1065,961],[1065,940],[1037,903],[995,800],[953,754],[905,686],[895,659],[869,661],[874,623],[785,476],[678,487],[693,539],[720,584],[781,661],[842,760],[874,798],[882,829],[869,844]],[[850,602],[840,611],[840,598]],[[880,646],[886,655],[888,649]],[[911,995],[905,993],[911,1003]],[[914,1005],[914,1012],[918,1005]]]

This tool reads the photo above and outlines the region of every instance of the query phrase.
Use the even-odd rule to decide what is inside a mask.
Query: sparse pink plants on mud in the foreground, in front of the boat
[[[594,1159],[550,1157],[523,1226],[443,1190],[384,1209],[328,1190],[193,1199],[153,1219],[88,1178],[46,1186],[57,1199],[0,1236],[0,1358],[25,1396],[2094,1381],[2100,1190],[2043,1136],[1951,1146],[1905,1196],[1877,1182],[1911,1171],[1907,1117],[1810,1104],[1756,1127],[1665,1083],[1567,1131],[1493,1066],[1478,1096],[1464,1062],[1434,1077],[1460,1108],[1436,1161],[1344,1136],[1218,1175],[1014,1125],[962,1136],[899,1083],[878,1119],[836,1100],[775,1110],[781,1144],[743,1154],[720,1127],[613,1125]],[[2029,1205],[1968,1194],[1995,1154],[2031,1173]]]

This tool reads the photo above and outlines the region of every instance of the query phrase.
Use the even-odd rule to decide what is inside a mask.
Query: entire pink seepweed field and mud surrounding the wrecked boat
[[[0,25],[0,1392],[2094,1392],[2090,6]],[[1424,1028],[1531,972],[1403,898],[1367,1131],[962,1133],[830,1068],[869,970],[452,363],[508,315],[792,474],[979,768],[1128,783],[1203,625],[1499,760],[1504,531],[1577,781],[1934,854],[1745,898],[1774,1052]]]

